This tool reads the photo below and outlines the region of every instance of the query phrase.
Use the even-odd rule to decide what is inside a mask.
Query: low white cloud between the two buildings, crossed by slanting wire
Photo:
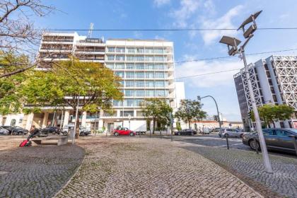
[[[188,59],[188,58],[187,58]],[[175,66],[176,78],[183,76],[194,76],[199,74],[209,74],[218,71],[226,71],[243,68],[243,63],[238,59],[230,61],[213,61],[213,62],[186,62]],[[192,88],[211,88],[217,86],[233,86],[233,75],[238,71],[227,71],[218,74],[209,74],[195,76],[192,78],[180,78],[178,81],[185,81],[187,86]]]

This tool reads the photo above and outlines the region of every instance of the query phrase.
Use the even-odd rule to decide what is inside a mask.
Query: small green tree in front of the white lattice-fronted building
[[[265,127],[269,124],[273,124],[275,128],[275,120],[287,120],[291,117],[294,112],[294,108],[288,105],[271,105],[266,104],[257,107],[259,112],[260,120],[264,122]],[[252,121],[255,122],[255,115],[252,111],[251,115]]]

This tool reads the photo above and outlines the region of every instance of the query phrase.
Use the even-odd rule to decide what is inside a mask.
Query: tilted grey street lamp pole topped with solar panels
[[[251,16],[249,16],[245,21],[243,21],[243,23],[238,28],[238,30],[240,30],[240,29],[243,30],[243,36],[246,39],[245,42],[243,43],[243,45],[238,47],[240,42],[238,42],[239,40],[236,39],[235,37],[223,36],[221,38],[220,42],[223,44],[226,44],[228,46],[228,54],[230,56],[234,56],[235,54],[240,54],[241,58],[243,59],[243,64],[245,65],[245,74],[248,79],[248,89],[250,92],[250,100],[252,102],[252,110],[255,114],[255,121],[256,121],[256,125],[257,125],[257,131],[258,131],[258,136],[259,136],[259,141],[260,141],[260,146],[261,146],[261,151],[262,151],[262,156],[263,156],[264,167],[265,167],[267,173],[272,173],[272,165],[269,161],[267,147],[266,147],[264,135],[262,132],[260,116],[259,116],[259,112],[257,110],[256,101],[255,101],[255,95],[252,91],[252,83],[250,81],[250,73],[248,71],[248,63],[247,63],[247,60],[245,59],[245,45],[248,44],[249,40],[253,37],[253,33],[255,32],[255,30],[257,30],[257,25],[256,25],[255,19],[260,15],[261,12],[262,11],[258,11],[257,13],[254,13]],[[250,27],[247,30],[245,30],[245,25],[248,25],[249,23],[252,23],[252,25],[250,25]],[[231,47],[231,49],[230,49],[230,47]]]

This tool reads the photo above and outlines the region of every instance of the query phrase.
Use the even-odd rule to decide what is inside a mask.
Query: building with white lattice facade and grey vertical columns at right
[[[250,64],[248,71],[257,106],[286,104],[293,107],[296,112],[291,119],[276,122],[276,127],[297,128],[297,57],[272,55]],[[252,110],[252,103],[245,69],[234,75],[234,81],[241,117],[248,127],[251,124],[248,112]]]

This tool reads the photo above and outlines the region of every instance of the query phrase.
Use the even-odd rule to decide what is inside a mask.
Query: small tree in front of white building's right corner
[[[156,122],[167,125],[170,122],[170,113],[173,109],[165,100],[160,98],[148,98],[141,104],[144,116],[153,121],[153,134],[155,134]]]

